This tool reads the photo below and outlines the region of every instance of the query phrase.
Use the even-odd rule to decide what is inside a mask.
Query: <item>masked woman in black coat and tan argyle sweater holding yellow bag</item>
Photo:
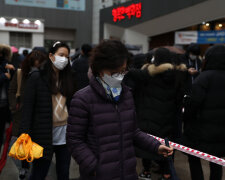
[[[70,49],[56,42],[49,59],[27,80],[23,101],[21,133],[44,148],[43,157],[34,160],[30,180],[44,180],[56,155],[59,180],[69,179],[71,155],[66,145],[66,128],[70,101],[75,93],[75,81],[68,62]]]

